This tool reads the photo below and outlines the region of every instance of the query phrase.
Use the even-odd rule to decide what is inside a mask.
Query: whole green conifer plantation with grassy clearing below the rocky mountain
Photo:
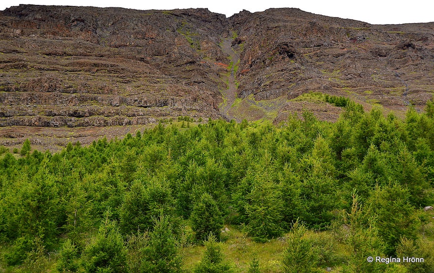
[[[433,105],[0,149],[0,269],[433,272]]]

